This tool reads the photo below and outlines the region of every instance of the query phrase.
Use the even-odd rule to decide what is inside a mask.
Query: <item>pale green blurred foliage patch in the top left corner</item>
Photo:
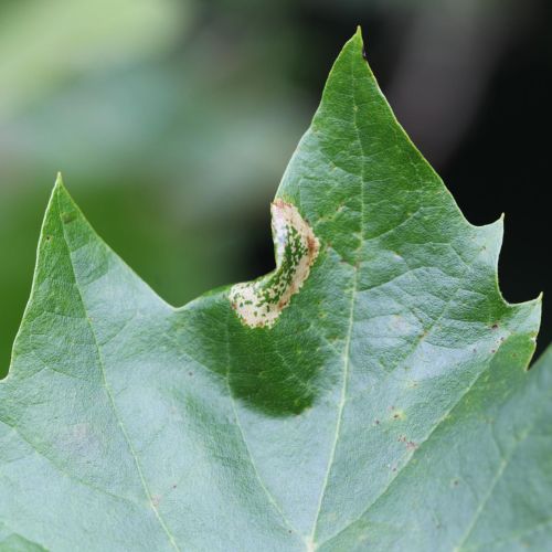
[[[25,0],[1,13],[0,115],[67,78],[167,50],[189,18],[178,0]]]

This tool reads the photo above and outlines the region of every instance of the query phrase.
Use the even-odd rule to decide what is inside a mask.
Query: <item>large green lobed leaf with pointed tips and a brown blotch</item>
[[[502,221],[466,222],[360,33],[273,230],[273,274],[174,309],[57,183],[0,383],[0,550],[550,542],[540,300],[502,299]]]

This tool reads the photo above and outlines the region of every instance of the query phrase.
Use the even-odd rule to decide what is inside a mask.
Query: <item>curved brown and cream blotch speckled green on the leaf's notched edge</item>
[[[320,243],[291,203],[277,199],[270,206],[276,269],[254,282],[236,284],[230,301],[243,323],[272,327],[291,296],[308,278]]]

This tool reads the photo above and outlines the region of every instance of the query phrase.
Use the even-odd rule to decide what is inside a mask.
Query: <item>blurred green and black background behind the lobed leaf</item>
[[[269,201],[357,24],[468,219],[507,212],[506,297],[534,297],[551,282],[548,145],[535,132],[550,121],[549,4],[3,0],[0,375],[59,170],[172,305],[270,269]]]

